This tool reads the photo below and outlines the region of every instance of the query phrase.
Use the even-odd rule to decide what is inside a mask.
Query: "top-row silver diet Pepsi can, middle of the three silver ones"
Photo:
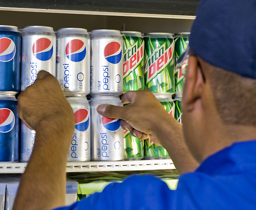
[[[66,96],[90,93],[91,40],[86,29],[57,32],[56,76]]]

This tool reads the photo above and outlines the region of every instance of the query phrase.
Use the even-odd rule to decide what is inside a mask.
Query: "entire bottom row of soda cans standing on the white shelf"
[[[158,96],[166,111],[181,122],[181,98],[173,101],[169,96]],[[167,151],[162,146],[131,136],[120,126],[120,119],[109,119],[97,112],[100,104],[122,106],[119,97],[67,97],[75,115],[75,129],[69,148],[68,161],[114,161],[165,159]],[[0,161],[19,160],[19,117],[17,100],[13,95],[0,96]],[[27,162],[33,150],[35,131],[20,122],[20,160]],[[144,146],[143,146],[144,144]]]

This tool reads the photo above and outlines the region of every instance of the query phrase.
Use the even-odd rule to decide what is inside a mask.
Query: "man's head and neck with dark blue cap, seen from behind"
[[[190,35],[184,136],[198,161],[256,139],[256,0],[203,0]]]

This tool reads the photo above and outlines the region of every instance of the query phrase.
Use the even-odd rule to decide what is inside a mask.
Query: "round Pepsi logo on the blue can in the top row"
[[[7,37],[0,38],[0,61],[8,62],[12,60],[16,53],[14,42]]]

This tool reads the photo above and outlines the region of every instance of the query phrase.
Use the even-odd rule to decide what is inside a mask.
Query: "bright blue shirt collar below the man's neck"
[[[236,142],[205,159],[196,172],[232,174],[256,169],[256,140]]]

